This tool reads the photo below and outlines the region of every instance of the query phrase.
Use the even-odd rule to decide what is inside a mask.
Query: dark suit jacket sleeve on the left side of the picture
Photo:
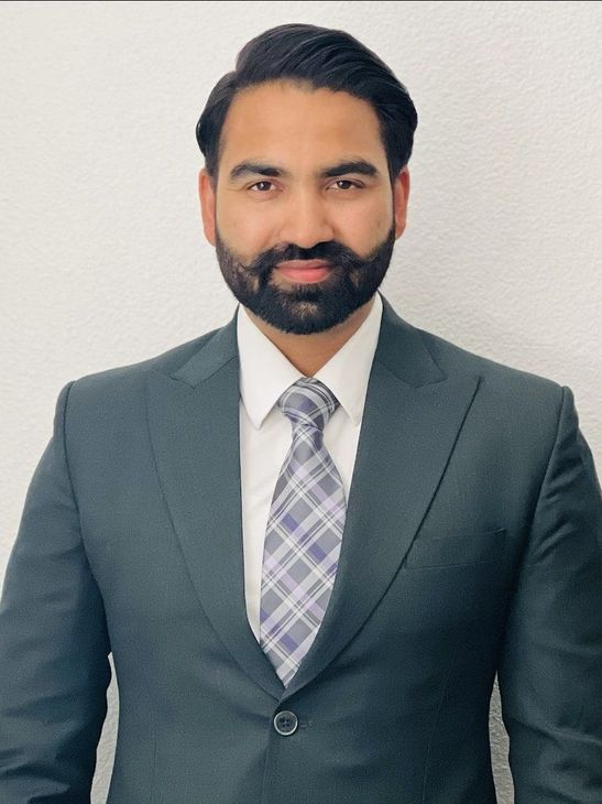
[[[65,450],[73,382],[33,474],[0,601],[0,802],[85,804],[111,678]]]

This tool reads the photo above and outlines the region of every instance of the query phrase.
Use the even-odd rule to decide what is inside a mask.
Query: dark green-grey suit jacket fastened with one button
[[[335,587],[284,688],[245,610],[236,314],[72,381],[4,580],[0,801],[89,801],[112,651],[109,804],[490,804],[496,673],[515,801],[600,804],[600,521],[571,390],[383,297]]]

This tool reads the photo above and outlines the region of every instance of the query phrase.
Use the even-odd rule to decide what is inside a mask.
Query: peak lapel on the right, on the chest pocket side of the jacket
[[[479,384],[477,376],[446,376],[420,333],[382,301],[335,586],[316,639],[281,703],[335,659],[386,591],[436,493]]]

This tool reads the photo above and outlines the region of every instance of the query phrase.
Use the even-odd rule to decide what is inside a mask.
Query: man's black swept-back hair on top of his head
[[[237,93],[271,80],[343,90],[366,100],[381,126],[391,182],[412,154],[418,122],[407,89],[379,56],[346,31],[300,23],[277,25],[250,40],[236,68],[216,84],[196,127],[205,167],[217,181],[220,134]]]

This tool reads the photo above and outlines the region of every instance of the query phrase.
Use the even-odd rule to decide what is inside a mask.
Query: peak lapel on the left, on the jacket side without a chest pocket
[[[172,374],[147,378],[157,472],[191,582],[227,650],[265,692],[282,682],[247,619],[236,315]]]

